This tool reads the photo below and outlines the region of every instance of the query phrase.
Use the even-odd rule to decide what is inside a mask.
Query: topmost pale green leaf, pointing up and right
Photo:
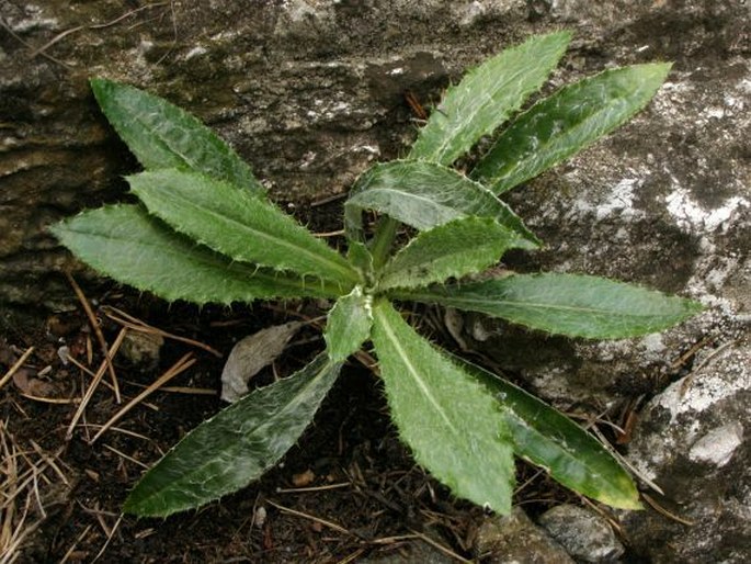
[[[420,131],[409,157],[441,165],[454,162],[539,89],[570,40],[568,32],[538,35],[471,69],[448,89]]]

